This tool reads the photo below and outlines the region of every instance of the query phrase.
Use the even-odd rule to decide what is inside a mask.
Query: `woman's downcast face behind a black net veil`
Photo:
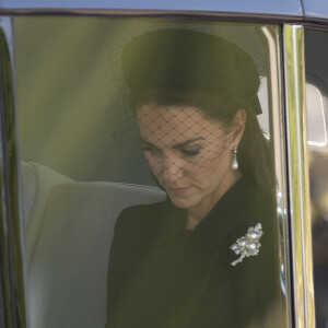
[[[211,208],[241,176],[231,164],[245,120],[226,127],[195,107],[156,105],[137,116],[144,156],[176,207]]]

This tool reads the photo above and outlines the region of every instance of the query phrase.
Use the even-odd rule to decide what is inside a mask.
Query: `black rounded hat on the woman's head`
[[[121,59],[130,90],[157,87],[226,93],[261,113],[260,80],[251,57],[215,35],[159,30],[132,39]]]

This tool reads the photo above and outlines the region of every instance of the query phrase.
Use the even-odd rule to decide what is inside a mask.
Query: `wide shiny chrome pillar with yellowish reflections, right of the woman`
[[[296,328],[315,327],[306,155],[304,30],[283,26],[290,216]]]

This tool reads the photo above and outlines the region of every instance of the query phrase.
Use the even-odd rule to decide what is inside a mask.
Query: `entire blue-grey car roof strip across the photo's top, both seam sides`
[[[0,13],[48,11],[181,11],[270,15],[296,20],[328,20],[328,1],[323,0],[0,0]]]

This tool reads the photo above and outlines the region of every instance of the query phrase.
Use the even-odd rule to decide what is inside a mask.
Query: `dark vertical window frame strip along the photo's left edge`
[[[23,222],[19,210],[11,19],[0,17],[0,292],[5,328],[25,328]],[[1,326],[1,327],[2,327]]]

